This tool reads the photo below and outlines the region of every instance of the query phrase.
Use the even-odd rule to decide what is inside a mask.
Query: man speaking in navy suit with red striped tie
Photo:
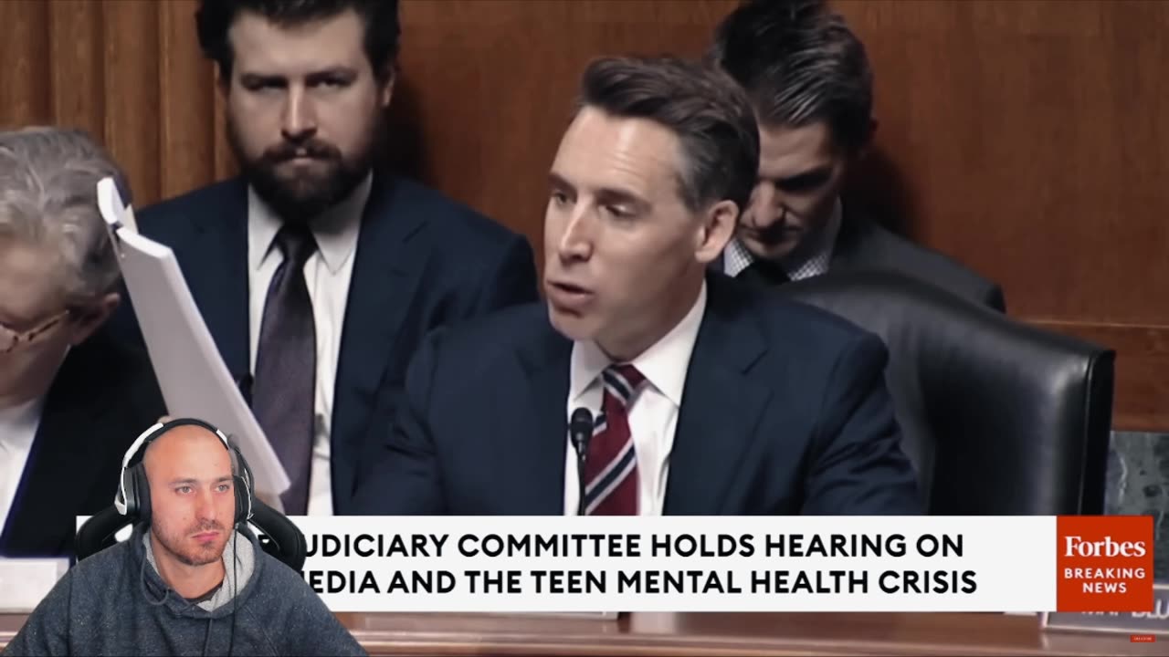
[[[919,512],[881,343],[708,271],[755,180],[746,95],[669,58],[600,60],[581,91],[547,304],[428,337],[355,512]]]

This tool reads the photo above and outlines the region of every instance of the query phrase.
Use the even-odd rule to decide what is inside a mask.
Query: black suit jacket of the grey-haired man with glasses
[[[98,331],[65,357],[0,533],[4,556],[74,556],[77,516],[113,503],[122,457],[166,414],[146,354]]]

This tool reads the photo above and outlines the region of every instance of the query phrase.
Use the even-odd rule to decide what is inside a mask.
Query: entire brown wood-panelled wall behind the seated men
[[[399,167],[525,233],[586,62],[698,55],[734,0],[403,0]],[[837,0],[877,79],[853,192],[1119,352],[1116,426],[1169,429],[1169,4]],[[138,205],[234,174],[195,0],[0,1],[0,125],[90,130]]]

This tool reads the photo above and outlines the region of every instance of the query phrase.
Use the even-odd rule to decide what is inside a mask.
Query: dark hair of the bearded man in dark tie
[[[348,9],[365,23],[365,51],[374,75],[385,81],[397,62],[401,25],[397,0],[200,0],[195,28],[203,54],[219,64],[226,81],[231,76],[235,53],[228,30],[243,12],[258,14],[269,21],[295,27],[331,19]]]

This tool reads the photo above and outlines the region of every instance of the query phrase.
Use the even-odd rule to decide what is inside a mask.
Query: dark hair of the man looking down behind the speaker
[[[869,56],[823,0],[748,0],[719,23],[708,56],[747,90],[760,123],[825,122],[850,153],[867,143]]]

